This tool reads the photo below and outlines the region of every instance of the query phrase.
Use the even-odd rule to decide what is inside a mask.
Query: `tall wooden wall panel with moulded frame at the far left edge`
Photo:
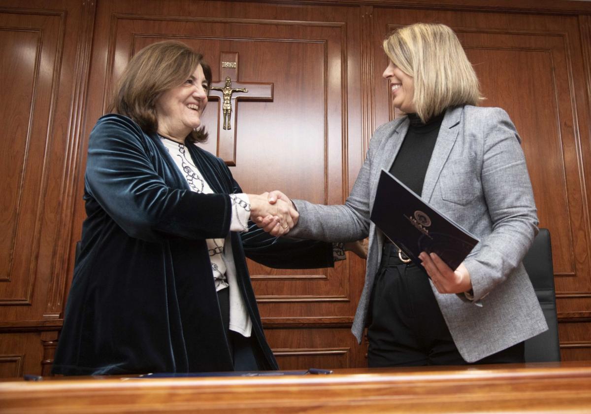
[[[59,12],[4,12],[0,18],[5,56],[0,69],[2,90],[13,101],[0,115],[7,126],[0,138],[7,148],[0,161],[4,176],[2,234],[7,236],[2,242],[0,303],[30,306],[37,277],[47,276],[46,269],[38,269],[35,258],[42,242],[41,215],[46,208],[49,174],[46,154],[52,145],[47,131],[55,110],[54,85],[61,64],[65,16]],[[47,264],[42,261],[41,266]],[[38,301],[36,305],[43,304]],[[30,310],[12,309],[18,313]]]

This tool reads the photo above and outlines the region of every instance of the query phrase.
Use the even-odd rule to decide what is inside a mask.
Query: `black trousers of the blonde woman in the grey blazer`
[[[422,267],[402,263],[388,243],[370,299],[368,366],[466,365]],[[524,362],[524,342],[476,364]]]

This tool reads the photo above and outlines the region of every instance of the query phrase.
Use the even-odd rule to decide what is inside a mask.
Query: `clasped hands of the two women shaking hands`
[[[279,237],[287,234],[296,224],[300,215],[291,200],[280,191],[249,194],[251,220],[269,234]]]

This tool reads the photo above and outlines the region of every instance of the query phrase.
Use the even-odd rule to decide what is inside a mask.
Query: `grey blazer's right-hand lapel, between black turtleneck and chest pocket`
[[[425,181],[423,182],[423,192],[421,193],[421,198],[427,201],[431,200],[441,170],[447,161],[450,151],[452,151],[459,131],[462,130],[462,112],[463,106],[447,109],[443,117],[443,122],[441,122],[437,142],[435,143],[435,148],[433,148],[433,155],[431,156]]]

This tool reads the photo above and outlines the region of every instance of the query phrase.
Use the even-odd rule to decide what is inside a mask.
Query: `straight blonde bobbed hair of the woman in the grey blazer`
[[[382,45],[389,59],[413,77],[417,115],[428,121],[449,106],[478,105],[476,72],[453,30],[444,24],[401,27]]]

